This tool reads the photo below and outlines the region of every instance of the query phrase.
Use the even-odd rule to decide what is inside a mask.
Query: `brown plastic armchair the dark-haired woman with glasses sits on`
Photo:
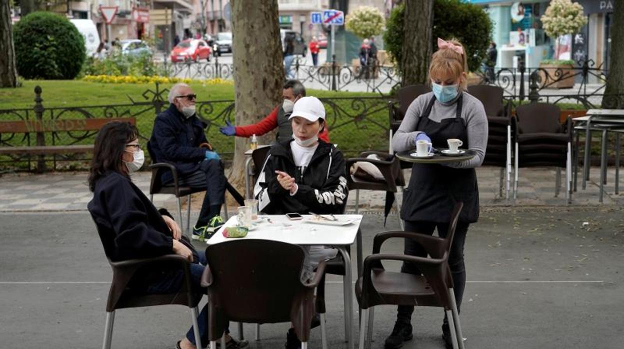
[[[189,268],[190,263],[188,260],[180,255],[163,255],[154,258],[141,258],[112,262],[109,256],[111,255],[110,248],[114,245],[114,242],[112,241],[114,233],[110,227],[107,227],[106,224],[98,222],[93,216],[92,219],[95,222],[97,233],[100,235],[100,240],[102,241],[102,245],[104,247],[104,253],[106,254],[110,267],[113,270],[113,280],[110,284],[109,298],[106,302],[106,325],[104,329],[104,343],[102,344],[102,348],[110,349],[113,337],[115,311],[117,309],[172,304],[186,305],[190,308],[193,330],[195,332],[195,340],[197,340],[197,347],[202,348],[199,326],[197,324],[197,305],[200,302],[202,295],[193,292]],[[154,268],[162,267],[163,263],[167,263],[168,265],[178,265],[183,270],[184,282],[178,292],[148,295],[129,287],[130,281],[140,269],[144,270],[145,267],[150,266]]]

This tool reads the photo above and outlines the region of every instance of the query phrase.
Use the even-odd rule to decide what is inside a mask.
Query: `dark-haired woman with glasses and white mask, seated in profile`
[[[112,232],[110,236],[100,236],[106,255],[113,262],[171,253],[181,255],[192,262],[191,281],[197,292],[205,293],[200,287],[205,256],[195,252],[167,210],[157,210],[130,179],[130,174],[139,170],[145,159],[138,135],[137,128],[129,122],[109,122],[95,138],[89,173],[93,199],[87,208],[95,224],[105,228],[100,231]],[[156,270],[150,266],[137,272],[129,287],[139,293],[171,293],[180,290],[182,282],[180,268],[163,265]],[[202,343],[208,343],[206,312],[204,307],[198,317]],[[233,341],[229,336],[227,340]],[[194,343],[191,327],[178,341],[177,348],[195,348]],[[228,344],[228,348],[237,347],[238,343]]]

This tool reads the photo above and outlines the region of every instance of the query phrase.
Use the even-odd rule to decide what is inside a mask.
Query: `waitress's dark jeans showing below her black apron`
[[[457,302],[457,311],[462,304],[462,297],[464,296],[464,288],[466,288],[466,267],[464,266],[464,242],[466,242],[466,233],[468,232],[469,223],[457,223],[455,229],[455,236],[451,245],[451,253],[449,253],[449,267],[451,268],[451,277],[453,279],[453,287],[455,292],[455,300]],[[439,237],[446,237],[446,233],[449,230],[449,224],[437,224],[434,222],[424,221],[405,221],[406,232],[419,232],[423,234],[432,235],[434,229],[437,227],[437,234]],[[427,257],[427,252],[416,241],[411,238],[405,239],[404,253],[406,255]],[[410,273],[421,275],[421,271],[413,263],[404,262],[401,266],[402,273]],[[411,305],[399,305],[397,313],[397,322],[410,323],[412,320],[412,313],[414,307]],[[444,323],[446,323],[446,314],[444,316]]]

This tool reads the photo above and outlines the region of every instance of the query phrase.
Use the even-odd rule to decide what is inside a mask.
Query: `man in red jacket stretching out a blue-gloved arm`
[[[284,90],[282,92],[284,102],[256,124],[246,126],[235,126],[230,124],[229,121],[225,121],[226,126],[221,127],[219,130],[225,135],[237,135],[238,137],[251,137],[251,135],[263,135],[277,127],[277,134],[275,141],[278,143],[286,142],[293,137],[293,127],[291,126],[288,117],[293,112],[295,102],[301,97],[306,96],[306,88],[298,80],[288,80],[284,84]],[[323,132],[318,135],[319,139],[329,143],[329,132],[327,127],[323,129]]]

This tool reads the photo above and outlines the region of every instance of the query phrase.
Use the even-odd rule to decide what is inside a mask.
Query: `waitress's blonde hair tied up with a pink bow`
[[[466,59],[466,49],[457,39],[450,39],[447,42],[462,47],[463,54],[459,54],[453,49],[444,48],[434,52],[429,64],[429,79],[452,76],[460,79],[463,72],[468,72],[468,61]],[[460,88],[466,91],[467,79],[460,82]]]

